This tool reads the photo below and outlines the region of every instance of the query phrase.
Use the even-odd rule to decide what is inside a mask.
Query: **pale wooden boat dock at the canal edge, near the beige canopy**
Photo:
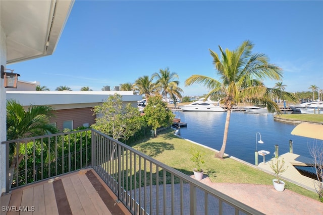
[[[286,153],[281,156],[279,156],[279,159],[284,158],[285,161],[285,168],[286,171],[281,174],[283,180],[288,179],[291,182],[298,184],[302,187],[305,187],[309,190],[312,190],[315,192],[314,187],[314,179],[311,179],[309,177],[303,176],[294,166],[311,166],[313,165],[313,159],[306,158],[304,156],[300,156],[293,153]],[[265,171],[274,173],[274,171],[270,167],[271,161],[266,161],[265,164],[261,162],[258,167],[260,169],[263,169]]]

